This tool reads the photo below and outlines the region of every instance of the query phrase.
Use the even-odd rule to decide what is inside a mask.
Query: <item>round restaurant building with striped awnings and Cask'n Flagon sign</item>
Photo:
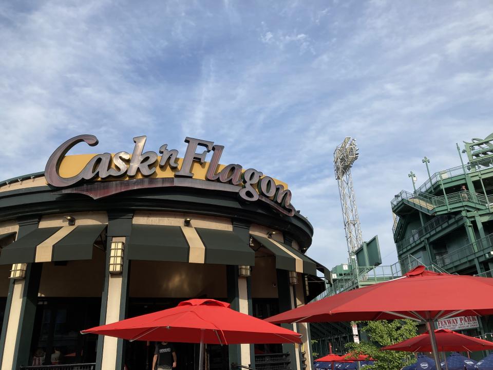
[[[186,138],[180,157],[166,144],[144,152],[145,140],[132,153],[71,155],[98,144],[74,137],[44,172],[0,182],[1,370],[150,369],[153,343],[80,330],[191,298],[266,318],[325,289],[330,273],[305,254],[313,228],[287,184],[219,164],[224,147],[210,141]],[[206,368],[310,370],[308,326],[286,327],[301,345],[209,345]],[[176,349],[177,370],[198,368],[198,345]]]

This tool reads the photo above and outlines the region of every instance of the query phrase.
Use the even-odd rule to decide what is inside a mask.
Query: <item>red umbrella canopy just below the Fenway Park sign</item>
[[[493,349],[493,342],[488,342],[479,338],[469,337],[447,329],[435,330],[435,338],[437,338],[437,347],[440,352],[447,352],[447,351],[472,352],[476,350]],[[399,350],[405,352],[432,351],[431,339],[428,333],[407,339],[403,342],[399,342],[396,344],[383,347],[381,349]]]

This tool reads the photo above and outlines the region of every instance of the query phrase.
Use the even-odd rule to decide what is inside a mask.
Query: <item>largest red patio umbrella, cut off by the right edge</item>
[[[458,292],[469,297],[460,299]],[[440,358],[434,322],[455,316],[493,313],[493,279],[451,275],[418,266],[402,278],[332,295],[266,319],[272,323],[411,319],[424,322],[437,369]]]

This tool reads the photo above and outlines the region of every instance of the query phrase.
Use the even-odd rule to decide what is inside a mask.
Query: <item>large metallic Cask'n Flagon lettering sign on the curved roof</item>
[[[88,181],[96,178],[106,180],[127,178],[129,180],[126,182],[134,181],[133,184],[112,187],[113,193],[138,189],[140,187],[153,187],[153,182],[154,187],[188,186],[235,191],[245,201],[257,201],[260,199],[281,213],[289,216],[293,216],[295,213],[295,209],[291,205],[291,191],[285,189],[282,184],[276,184],[272,177],[263,176],[262,172],[255,169],[243,170],[240,164],[228,164],[218,171],[219,160],[224,150],[224,146],[222,145],[215,145],[212,141],[187,137],[185,138],[185,142],[188,145],[180,166],[177,150],[168,149],[167,144],[161,145],[159,149],[161,157],[159,158],[156,152],[144,152],[145,141],[145,136],[134,138],[134,151],[131,155],[127,152],[118,152],[115,155],[110,153],[98,154],[92,157],[77,175],[62,177],[60,175],[60,165],[65,155],[73,146],[81,142],[85,142],[89,146],[98,144],[98,139],[94,135],[75,136],[60,145],[48,159],[45,168],[46,181],[58,188],[70,187],[84,180]],[[203,147],[204,150],[200,151],[199,147]],[[213,152],[212,158],[207,163],[208,167],[204,180],[214,182],[217,185],[206,187],[202,184],[202,180],[193,179],[194,174],[192,173],[192,169],[194,162],[200,164],[205,163],[205,157],[211,151]],[[150,178],[156,172],[157,168],[164,170],[167,167],[173,170],[173,182],[169,181],[169,179]],[[144,181],[132,179],[138,173],[142,174],[145,179],[140,180]],[[88,193],[88,190],[86,189],[85,192]]]

